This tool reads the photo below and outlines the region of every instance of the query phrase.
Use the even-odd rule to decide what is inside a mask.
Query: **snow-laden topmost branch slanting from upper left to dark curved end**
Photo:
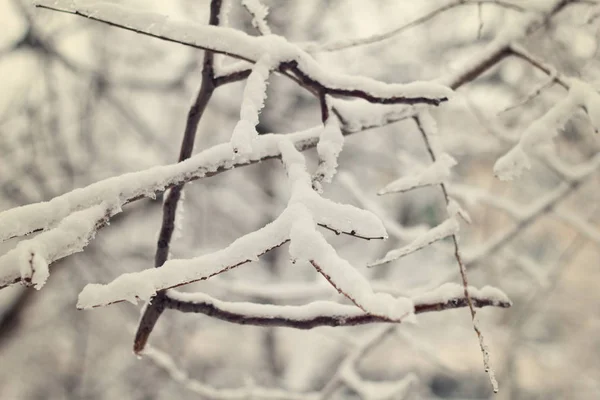
[[[452,90],[432,82],[387,84],[371,78],[333,73],[281,36],[253,37],[236,29],[176,21],[95,0],[38,0],[37,7],[76,14],[158,39],[256,63],[269,54],[278,70],[301,85],[336,96],[361,97],[373,103],[433,104],[446,101]]]

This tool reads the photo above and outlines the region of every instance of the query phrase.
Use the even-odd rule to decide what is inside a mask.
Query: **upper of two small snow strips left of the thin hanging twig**
[[[430,164],[424,170],[387,184],[383,189],[379,190],[377,194],[401,193],[424,186],[444,183],[450,177],[450,169],[455,165],[456,160],[449,154],[443,153],[434,163]]]

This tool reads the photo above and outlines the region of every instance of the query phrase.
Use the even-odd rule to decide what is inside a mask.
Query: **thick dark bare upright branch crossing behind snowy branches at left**
[[[208,20],[209,25],[219,24],[221,5],[222,0],[211,0],[210,17]],[[215,88],[214,53],[206,50],[204,53],[204,61],[202,63],[202,83],[198,89],[196,100],[188,112],[185,131],[181,141],[181,149],[179,151],[179,162],[190,158],[192,155],[198,124]],[[181,199],[183,186],[184,184],[172,187],[165,198],[163,204],[162,225],[158,234],[156,254],[154,257],[155,268],[160,268],[169,258],[171,239],[173,238],[173,232],[175,231],[175,215],[177,213],[177,205]],[[156,322],[165,310],[165,297],[165,291],[160,291],[152,302],[147,304],[135,334],[133,344],[133,351],[135,353],[140,353],[148,342],[150,333],[152,333]]]

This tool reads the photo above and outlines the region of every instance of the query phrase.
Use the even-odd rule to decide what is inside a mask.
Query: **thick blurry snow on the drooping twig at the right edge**
[[[541,144],[548,143],[558,130],[584,107],[596,131],[600,128],[600,95],[588,84],[575,78],[568,80],[569,93],[541,118],[535,120],[521,135],[521,139],[494,165],[494,173],[501,180],[513,180],[531,168],[530,156]]]

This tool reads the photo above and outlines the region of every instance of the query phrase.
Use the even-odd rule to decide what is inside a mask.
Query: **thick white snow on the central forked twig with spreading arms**
[[[270,140],[270,139],[266,139]],[[263,138],[257,140],[262,142]],[[191,260],[169,260],[163,267],[123,274],[107,285],[87,285],[79,295],[78,308],[91,308],[118,301],[150,300],[158,290],[208,279],[211,276],[255,261],[258,256],[288,240],[290,255],[323,268],[334,285],[375,315],[399,319],[412,312],[410,300],[389,294],[374,294],[368,281],[337,253],[315,229],[315,224],[357,235],[386,237],[379,219],[368,211],[323,199],[311,188],[304,156],[287,137],[277,139],[288,173],[292,195],[281,215],[262,229],[249,233],[217,252]],[[323,265],[321,267],[321,265]],[[332,282],[332,283],[333,283]]]

